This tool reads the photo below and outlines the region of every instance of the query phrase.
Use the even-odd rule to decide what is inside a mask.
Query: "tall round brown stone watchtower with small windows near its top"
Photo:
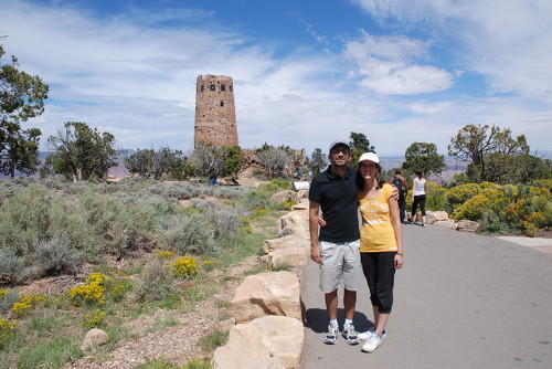
[[[199,75],[193,145],[237,146],[234,83],[224,75]]]

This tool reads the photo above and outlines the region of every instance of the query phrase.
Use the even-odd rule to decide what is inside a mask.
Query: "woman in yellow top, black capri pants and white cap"
[[[403,234],[399,202],[393,187],[380,180],[380,159],[365,152],[359,159],[357,172],[358,200],[362,214],[360,257],[362,271],[370,288],[374,313],[374,327],[359,334],[367,340],[362,351],[372,352],[385,337],[391,308],[395,270],[403,266]]]

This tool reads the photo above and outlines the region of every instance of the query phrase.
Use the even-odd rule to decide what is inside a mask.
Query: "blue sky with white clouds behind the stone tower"
[[[0,35],[50,85],[25,124],[85,122],[117,148],[193,147],[195,78],[234,78],[243,148],[447,152],[467,124],[552,150],[549,0],[0,0]]]

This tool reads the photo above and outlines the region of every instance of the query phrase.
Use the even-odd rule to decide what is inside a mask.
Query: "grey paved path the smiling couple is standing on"
[[[432,225],[405,225],[403,233],[405,266],[396,273],[388,337],[373,354],[343,339],[322,342],[328,323],[318,265],[302,268],[302,369],[552,368],[552,253]],[[358,330],[372,319],[362,282]],[[339,307],[342,324],[341,301]]]

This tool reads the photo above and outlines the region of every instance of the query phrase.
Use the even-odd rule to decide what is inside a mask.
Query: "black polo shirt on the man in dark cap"
[[[355,177],[354,168],[347,168],[344,177],[340,177],[330,166],[312,179],[309,200],[320,204],[326,220],[319,241],[343,243],[360,239]]]

